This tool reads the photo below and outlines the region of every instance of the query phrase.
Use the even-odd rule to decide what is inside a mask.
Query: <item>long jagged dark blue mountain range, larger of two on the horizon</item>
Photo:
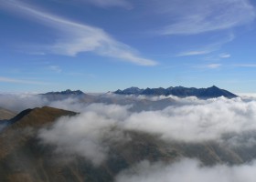
[[[227,98],[237,97],[235,94],[220,89],[217,86],[211,86],[208,88],[195,88],[195,87],[183,87],[183,86],[170,86],[168,88],[146,88],[140,89],[138,87],[130,87],[124,90],[117,90],[113,92],[118,95],[145,95],[145,96],[197,96],[198,98],[214,98],[219,96],[225,96]]]

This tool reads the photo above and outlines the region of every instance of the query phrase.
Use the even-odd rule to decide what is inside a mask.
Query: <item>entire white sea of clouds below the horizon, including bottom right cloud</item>
[[[215,141],[227,147],[256,147],[255,96],[207,100],[176,96],[103,97],[104,102],[98,99],[95,103],[93,99],[81,102],[76,97],[50,101],[37,95],[0,95],[0,106],[16,112],[36,106],[79,112],[76,116],[60,117],[52,126],[40,129],[38,137],[43,144],[55,146],[56,152],[85,157],[95,166],[107,159],[108,143],[131,140],[124,134],[125,130],[154,134],[165,141]],[[123,99],[130,100],[129,104],[124,105]],[[164,108],[152,109],[150,105],[155,102],[165,103]],[[147,104],[143,105],[144,109],[133,109],[138,103]],[[187,158],[174,164],[138,161],[137,165],[121,172],[116,181],[251,182],[256,179],[255,164],[251,161],[232,167],[202,167],[197,159]]]

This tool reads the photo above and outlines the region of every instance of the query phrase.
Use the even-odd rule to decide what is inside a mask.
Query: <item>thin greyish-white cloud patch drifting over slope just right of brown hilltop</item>
[[[50,129],[41,129],[38,136],[44,143],[56,146],[56,152],[85,157],[97,166],[107,158],[108,145],[103,140],[129,139],[112,129],[127,115],[126,106],[92,104],[79,116],[61,117]]]

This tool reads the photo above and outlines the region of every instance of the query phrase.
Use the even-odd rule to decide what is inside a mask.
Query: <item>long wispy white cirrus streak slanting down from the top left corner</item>
[[[65,56],[93,52],[100,56],[112,57],[140,66],[155,66],[157,64],[155,60],[139,56],[131,46],[115,40],[101,28],[50,15],[16,0],[3,1],[2,5],[15,13],[36,19],[38,23],[48,25],[57,31],[61,38],[56,40],[53,45],[42,46],[43,52]]]

